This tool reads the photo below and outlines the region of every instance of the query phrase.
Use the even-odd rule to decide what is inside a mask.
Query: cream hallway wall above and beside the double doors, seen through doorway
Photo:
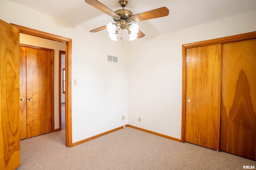
[[[20,43],[54,49],[54,129],[59,128],[59,50],[65,51],[65,43],[51,41],[20,33]]]

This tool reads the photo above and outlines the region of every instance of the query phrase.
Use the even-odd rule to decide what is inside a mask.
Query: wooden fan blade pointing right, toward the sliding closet
[[[169,10],[166,7],[158,8],[148,12],[143,12],[133,16],[136,21],[150,20],[154,18],[164,17],[169,15]]]

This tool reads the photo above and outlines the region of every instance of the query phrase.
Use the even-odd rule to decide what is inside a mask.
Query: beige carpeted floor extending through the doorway
[[[18,170],[242,170],[256,161],[126,127],[81,145],[65,131],[20,142]]]

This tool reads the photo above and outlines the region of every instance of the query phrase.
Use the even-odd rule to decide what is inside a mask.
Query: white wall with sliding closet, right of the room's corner
[[[252,11],[131,43],[128,123],[180,139],[182,44],[256,31],[255,16]]]

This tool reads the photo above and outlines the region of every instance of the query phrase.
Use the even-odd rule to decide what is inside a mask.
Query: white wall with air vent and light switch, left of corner
[[[0,0],[0,19],[72,39],[72,142],[98,135],[128,123],[128,45],[109,37]],[[118,57],[118,64],[106,62]],[[126,119],[122,121],[122,115]]]

